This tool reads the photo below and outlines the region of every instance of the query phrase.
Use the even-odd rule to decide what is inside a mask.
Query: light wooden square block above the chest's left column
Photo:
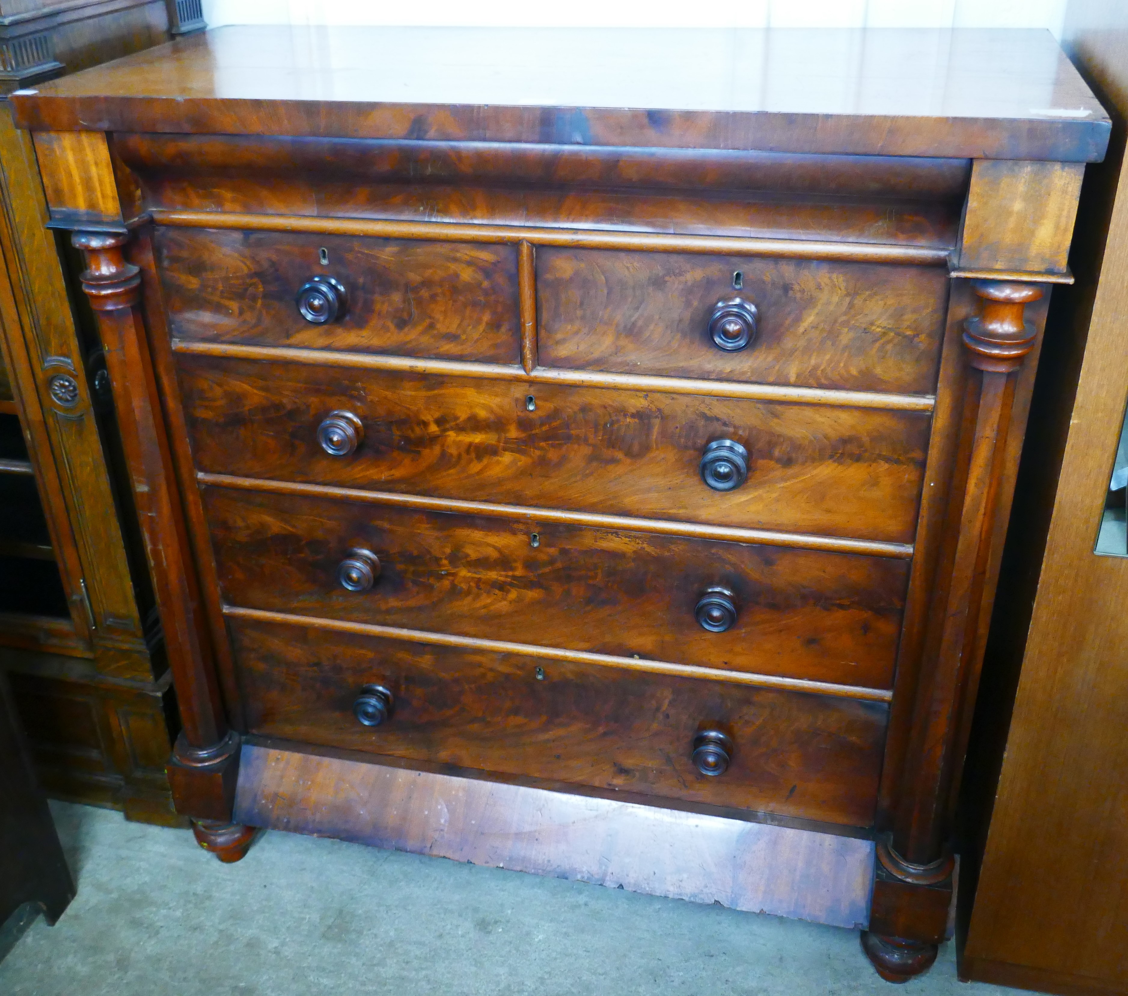
[[[36,132],[33,138],[52,218],[122,223],[114,167],[102,132]]]

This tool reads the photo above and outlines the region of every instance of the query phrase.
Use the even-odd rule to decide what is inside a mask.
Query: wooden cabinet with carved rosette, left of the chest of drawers
[[[177,729],[97,329],[7,94],[165,42],[165,0],[0,0],[0,667],[60,797],[179,822]],[[190,3],[191,6],[191,3]],[[8,15],[14,15],[8,17]]]

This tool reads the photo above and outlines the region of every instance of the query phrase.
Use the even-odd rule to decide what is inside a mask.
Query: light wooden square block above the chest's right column
[[[977,159],[960,266],[1064,273],[1084,171],[1079,162]]]

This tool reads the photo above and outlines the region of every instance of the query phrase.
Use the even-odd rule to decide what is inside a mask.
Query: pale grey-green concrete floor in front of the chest
[[[292,834],[221,865],[187,830],[53,809],[78,898],[0,962],[3,996],[1017,991],[957,981],[951,944],[895,989],[855,931]]]

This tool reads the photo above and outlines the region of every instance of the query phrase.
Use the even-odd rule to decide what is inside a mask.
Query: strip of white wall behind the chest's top
[[[1067,0],[203,0],[208,24],[608,27],[1026,27]]]

